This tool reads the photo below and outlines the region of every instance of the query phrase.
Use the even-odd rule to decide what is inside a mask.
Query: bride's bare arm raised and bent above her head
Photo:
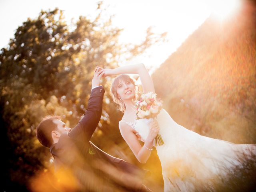
[[[153,81],[144,64],[121,66],[115,69],[104,69],[103,72],[104,76],[112,76],[119,74],[138,74],[140,76],[140,81],[142,83],[143,93],[155,93]]]

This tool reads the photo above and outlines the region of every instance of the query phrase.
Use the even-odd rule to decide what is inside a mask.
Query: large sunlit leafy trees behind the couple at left
[[[112,25],[111,16],[102,16],[100,6],[96,12],[94,20],[80,16],[71,30],[62,10],[41,11],[37,19],[19,26],[8,48],[0,52],[1,123],[7,133],[7,174],[12,182],[27,186],[31,176],[52,165],[49,149],[35,137],[36,126],[46,115],[60,115],[68,126],[75,126],[86,110],[96,66],[117,67],[166,35],[148,28],[141,44],[120,44],[122,30]],[[120,157],[110,151],[112,146],[128,149],[118,131],[121,116],[111,102],[109,81],[102,80],[104,111],[92,140]]]

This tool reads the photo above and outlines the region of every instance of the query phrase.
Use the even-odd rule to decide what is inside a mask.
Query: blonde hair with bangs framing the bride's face
[[[112,85],[111,85],[111,96],[113,98],[113,101],[114,103],[117,104],[117,107],[119,108],[119,110],[121,112],[124,112],[126,107],[125,107],[125,104],[124,104],[124,101],[118,96],[118,93],[116,92],[117,88],[118,88],[118,84],[120,81],[129,81],[131,82],[135,87],[138,85],[136,85],[136,80],[134,78],[131,78],[130,76],[126,75],[126,74],[121,74],[121,75],[118,75],[116,78],[114,78],[114,81],[112,82]],[[136,90],[135,88],[135,96],[134,96],[134,99],[136,100],[138,97],[138,90]]]

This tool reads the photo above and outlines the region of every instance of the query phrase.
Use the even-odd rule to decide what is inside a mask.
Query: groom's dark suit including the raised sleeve
[[[150,191],[140,180],[144,171],[110,156],[89,141],[100,121],[104,92],[102,86],[92,89],[84,117],[50,147],[55,172],[72,172],[80,191]]]

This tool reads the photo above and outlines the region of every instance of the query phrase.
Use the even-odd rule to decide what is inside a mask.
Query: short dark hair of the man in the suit
[[[57,129],[57,125],[53,122],[54,119],[61,120],[60,116],[46,116],[36,128],[36,138],[39,142],[48,148],[53,143],[52,131]]]

